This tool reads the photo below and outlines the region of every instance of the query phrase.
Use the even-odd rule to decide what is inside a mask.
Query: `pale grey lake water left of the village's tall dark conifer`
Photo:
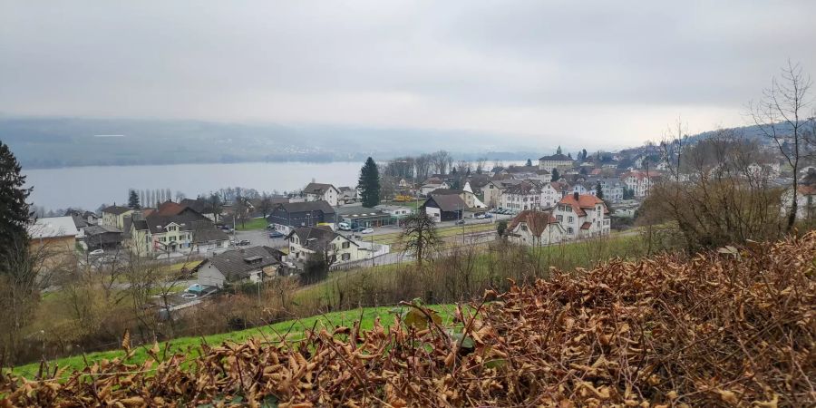
[[[259,192],[302,189],[307,183],[356,186],[362,162],[269,162],[90,166],[25,170],[33,186],[31,201],[45,209],[97,209],[102,203],[124,205],[128,189],[170,189],[189,198],[209,191],[243,187]]]

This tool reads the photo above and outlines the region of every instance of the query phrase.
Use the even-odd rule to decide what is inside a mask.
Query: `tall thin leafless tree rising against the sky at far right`
[[[786,231],[790,232],[796,222],[799,209],[799,170],[802,160],[809,156],[813,147],[813,117],[806,110],[811,106],[811,77],[803,73],[798,63],[788,61],[779,77],[774,77],[771,87],[763,91],[760,102],[751,104],[753,122],[765,138],[772,140],[784,160],[793,170],[791,209],[788,212]]]

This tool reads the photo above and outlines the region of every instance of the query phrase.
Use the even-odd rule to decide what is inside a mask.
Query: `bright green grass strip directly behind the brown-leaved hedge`
[[[429,306],[436,310],[442,316],[442,324],[450,325],[452,323],[452,315],[455,306],[439,305]],[[366,307],[356,310],[347,310],[345,312],[334,312],[320,316],[306,317],[297,320],[289,320],[286,322],[276,323],[274,325],[266,325],[255,327],[246,330],[239,330],[235,332],[222,333],[219,335],[190,336],[180,337],[170,340],[167,344],[162,344],[162,349],[167,346],[167,355],[174,353],[186,353],[189,356],[197,356],[200,352],[200,345],[206,342],[208,345],[220,345],[224,342],[243,342],[250,337],[262,338],[270,342],[277,342],[283,338],[288,341],[299,340],[303,338],[305,330],[320,329],[325,327],[327,330],[334,329],[336,326],[351,326],[356,320],[360,321],[360,326],[364,329],[371,329],[374,327],[374,319],[379,316],[380,323],[386,327],[393,325],[394,311],[402,311],[403,307],[381,306],[381,307]],[[135,354],[131,357],[132,364],[141,364],[148,358],[147,348],[151,345],[138,347]],[[163,353],[163,351],[162,351]],[[160,355],[162,354],[160,353]],[[89,353],[85,355],[85,359],[89,363],[100,361],[102,359],[112,360],[124,355],[122,350],[112,350],[105,352]],[[49,362],[49,364],[58,364],[60,367],[67,367],[69,370],[82,370],[85,366],[82,355],[74,355],[71,357],[60,358]],[[13,373],[17,375],[24,375],[32,378],[39,370],[39,363],[25,364],[13,369]],[[53,365],[51,365],[53,370]]]

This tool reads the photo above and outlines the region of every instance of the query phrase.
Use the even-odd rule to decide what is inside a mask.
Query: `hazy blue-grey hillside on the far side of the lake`
[[[491,160],[522,160],[529,155],[523,152],[529,148],[508,144],[506,135],[209,121],[0,116],[0,141],[11,146],[27,168],[364,160],[368,156],[384,160],[441,149],[462,157],[486,155]]]

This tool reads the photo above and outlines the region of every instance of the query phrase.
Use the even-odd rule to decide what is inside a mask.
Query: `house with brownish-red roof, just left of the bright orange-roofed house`
[[[550,211],[525,209],[510,220],[505,236],[516,244],[539,246],[561,242],[566,232]]]

